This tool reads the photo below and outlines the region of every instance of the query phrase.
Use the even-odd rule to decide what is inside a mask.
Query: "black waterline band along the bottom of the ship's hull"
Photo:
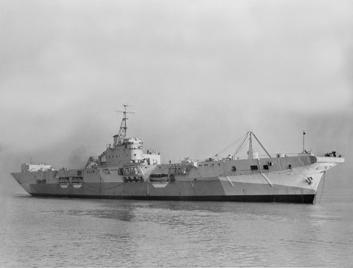
[[[106,198],[106,199],[137,199],[137,200],[174,200],[174,201],[235,201],[235,202],[276,202],[276,203],[310,203],[315,195],[208,195],[208,196],[122,196],[122,195],[55,195],[35,194],[41,197],[69,198]]]

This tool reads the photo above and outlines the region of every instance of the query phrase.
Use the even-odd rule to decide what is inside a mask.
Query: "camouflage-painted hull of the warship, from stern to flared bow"
[[[269,161],[273,166],[261,169]],[[325,171],[343,161],[303,156],[200,162],[168,181],[152,178],[163,178],[170,165],[138,167],[128,177],[118,174],[119,167],[12,175],[30,195],[43,197],[313,203]],[[255,164],[258,170],[249,169]]]

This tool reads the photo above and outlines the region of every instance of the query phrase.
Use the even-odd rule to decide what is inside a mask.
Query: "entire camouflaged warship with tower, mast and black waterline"
[[[124,106],[113,144],[100,156],[91,156],[84,168],[56,170],[24,163],[12,176],[33,196],[313,203],[326,171],[344,163],[335,151],[317,156],[304,145],[302,153],[271,156],[251,131],[226,158],[216,154],[202,161],[161,163],[157,151],[143,151],[141,139],[126,137]],[[253,150],[252,137],[265,157]],[[236,157],[248,138],[248,157]]]

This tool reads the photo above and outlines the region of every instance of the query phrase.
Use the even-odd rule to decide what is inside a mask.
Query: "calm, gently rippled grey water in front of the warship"
[[[352,267],[352,205],[0,196],[0,265]]]

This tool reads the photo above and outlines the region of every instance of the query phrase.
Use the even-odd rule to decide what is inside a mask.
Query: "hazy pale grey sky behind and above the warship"
[[[84,165],[128,103],[128,134],[162,159],[249,130],[299,152],[305,130],[346,158],[328,183],[352,185],[353,1],[0,0],[0,33],[2,184],[31,158]]]

